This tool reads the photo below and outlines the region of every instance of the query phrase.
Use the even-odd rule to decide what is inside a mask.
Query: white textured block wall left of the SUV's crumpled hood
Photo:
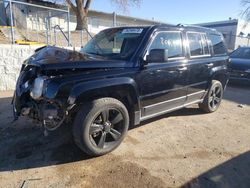
[[[39,47],[41,46],[0,45],[0,91],[15,90],[22,62]]]

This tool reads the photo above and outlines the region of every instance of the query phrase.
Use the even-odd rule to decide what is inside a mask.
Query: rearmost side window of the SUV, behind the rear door
[[[221,35],[210,34],[209,38],[213,45],[214,55],[224,55],[227,53],[227,49]]]

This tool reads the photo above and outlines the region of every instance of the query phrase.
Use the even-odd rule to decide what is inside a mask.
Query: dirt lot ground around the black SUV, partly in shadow
[[[0,187],[250,187],[248,87],[228,87],[213,114],[192,106],[144,122],[98,158],[69,127],[44,137],[32,122],[12,123],[10,101],[0,93]]]

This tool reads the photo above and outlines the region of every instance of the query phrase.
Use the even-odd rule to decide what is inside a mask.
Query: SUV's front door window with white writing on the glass
[[[184,57],[180,32],[161,32],[156,35],[149,50],[167,49],[168,58]]]

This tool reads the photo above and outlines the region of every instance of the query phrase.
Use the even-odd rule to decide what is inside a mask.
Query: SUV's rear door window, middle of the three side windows
[[[207,37],[203,33],[187,33],[191,56],[209,55]]]

